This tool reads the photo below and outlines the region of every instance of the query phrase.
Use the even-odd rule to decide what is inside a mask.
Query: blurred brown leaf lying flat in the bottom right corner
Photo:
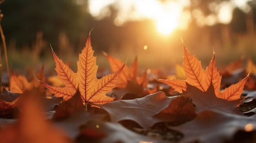
[[[239,130],[246,132],[255,130],[255,120],[256,115],[247,117],[205,110],[194,120],[171,129],[184,134],[181,143],[195,141],[221,143],[231,140]]]

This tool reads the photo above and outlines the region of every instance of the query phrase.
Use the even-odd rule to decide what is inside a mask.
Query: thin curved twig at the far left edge
[[[2,1],[1,1],[2,2]],[[3,18],[3,14],[0,14],[0,22]],[[4,45],[4,57],[5,57],[5,64],[6,64],[6,72],[7,72],[7,79],[8,79],[8,88],[10,89],[10,73],[9,73],[9,64],[8,64],[8,57],[7,57],[7,50],[6,50],[6,43],[5,43],[5,37],[4,37],[4,32],[0,23],[0,33]]]

